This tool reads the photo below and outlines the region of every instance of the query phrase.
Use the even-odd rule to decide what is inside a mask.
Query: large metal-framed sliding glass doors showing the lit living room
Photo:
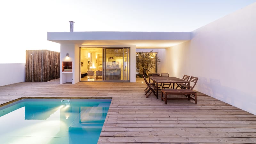
[[[130,48],[81,47],[80,81],[129,81]]]

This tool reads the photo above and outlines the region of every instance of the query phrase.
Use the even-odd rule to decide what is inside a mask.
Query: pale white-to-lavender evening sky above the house
[[[47,32],[193,31],[256,0],[1,0],[0,63],[25,63],[26,50],[60,52]]]

